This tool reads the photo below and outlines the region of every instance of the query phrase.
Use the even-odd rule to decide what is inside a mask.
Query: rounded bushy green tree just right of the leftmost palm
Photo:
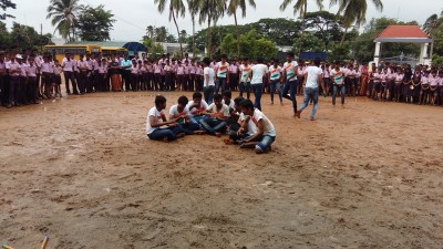
[[[115,19],[110,10],[104,10],[100,4],[95,8],[86,6],[79,14],[76,28],[82,41],[106,41],[111,40],[110,31],[113,28]]]

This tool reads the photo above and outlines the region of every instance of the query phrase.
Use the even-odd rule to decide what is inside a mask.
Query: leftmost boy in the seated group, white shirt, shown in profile
[[[146,134],[150,139],[171,142],[185,136],[186,132],[177,124],[178,118],[167,121],[165,116],[166,98],[155,97],[155,106],[150,110],[146,118]]]

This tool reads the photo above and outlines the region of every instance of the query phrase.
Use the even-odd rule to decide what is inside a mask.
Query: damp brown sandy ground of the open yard
[[[187,94],[190,96],[190,93]],[[168,106],[178,94],[165,93]],[[0,108],[0,242],[38,248],[442,248],[443,108],[321,98],[264,111],[256,155],[145,137],[153,93]],[[301,97],[298,98],[299,103]]]

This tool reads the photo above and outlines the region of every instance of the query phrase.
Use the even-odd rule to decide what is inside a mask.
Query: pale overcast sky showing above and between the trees
[[[285,12],[279,10],[282,0],[255,0],[257,8],[247,10],[247,17],[239,19],[239,23],[256,22],[262,18],[297,18],[293,15],[292,7],[288,7]],[[398,18],[400,21],[415,20],[422,24],[427,17],[433,13],[440,13],[443,10],[442,0],[383,0],[384,9],[379,12],[373,7],[371,0],[367,13],[367,20],[372,18]],[[16,19],[7,21],[8,28],[11,28],[12,22],[31,25],[40,32],[40,23],[43,24],[43,33],[52,33],[54,28],[51,25],[50,20],[47,20],[47,8],[49,0],[12,0],[17,3],[17,10],[8,9]],[[184,0],[186,2],[186,0]],[[329,10],[329,0],[324,0],[326,10]],[[80,0],[81,4],[104,4],[105,9],[112,10],[115,14],[116,22],[114,30],[111,32],[111,39],[115,41],[138,41],[145,34],[147,25],[165,25],[166,29],[176,35],[175,25],[168,21],[167,12],[158,13],[154,0]],[[309,0],[309,10],[317,11],[315,0]],[[293,6],[293,4],[292,4]],[[337,11],[337,8],[329,10]],[[219,21],[219,24],[233,24],[234,18],[225,17]],[[178,20],[178,28],[186,30],[192,34],[190,17],[186,13],[184,19]],[[202,27],[197,25],[198,31]],[[59,35],[55,33],[55,35]]]

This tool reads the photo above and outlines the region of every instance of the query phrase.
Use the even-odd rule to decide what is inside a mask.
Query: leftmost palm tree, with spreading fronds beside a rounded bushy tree
[[[75,39],[76,14],[81,10],[82,6],[79,4],[79,0],[51,0],[47,19],[52,18],[52,25],[55,27],[55,31],[58,30],[62,38],[73,41]]]

